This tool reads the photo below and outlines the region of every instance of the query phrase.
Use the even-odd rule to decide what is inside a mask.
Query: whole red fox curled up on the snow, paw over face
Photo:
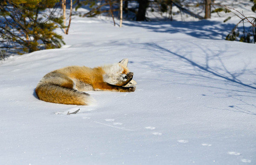
[[[68,66],[46,74],[35,88],[40,100],[61,104],[90,105],[84,91],[133,92],[136,82],[127,68],[128,59],[96,68]]]

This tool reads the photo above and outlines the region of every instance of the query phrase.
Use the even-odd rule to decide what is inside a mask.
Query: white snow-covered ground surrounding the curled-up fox
[[[0,65],[0,164],[255,165],[256,47],[223,40],[235,23],[124,21],[119,28],[74,17],[63,48]],[[49,71],[123,58],[135,92],[90,91],[92,106],[35,95]]]

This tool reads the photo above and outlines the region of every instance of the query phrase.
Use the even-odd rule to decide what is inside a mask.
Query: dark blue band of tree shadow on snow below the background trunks
[[[157,21],[157,22],[124,22],[125,26],[138,26],[161,33],[183,33],[202,39],[225,39],[236,26],[233,23],[221,23],[212,20],[200,21]]]

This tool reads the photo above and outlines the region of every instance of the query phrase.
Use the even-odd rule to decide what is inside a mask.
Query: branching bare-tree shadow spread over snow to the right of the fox
[[[187,45],[186,42],[184,43],[184,45],[188,47],[191,46],[189,44],[192,43],[187,42]],[[227,67],[227,59],[231,59],[231,57],[225,55],[226,61],[223,61],[224,52],[231,52],[230,54],[233,54],[234,56],[239,55],[239,52],[224,46],[223,50],[218,50],[218,53],[216,53],[213,48],[207,48],[195,43],[191,47],[195,48],[195,50],[200,50],[201,53],[205,55],[204,62],[202,62],[201,58],[204,56],[201,54],[198,56],[200,59],[197,59],[197,57],[193,56],[193,53],[195,54],[193,49],[185,54],[181,51],[189,50],[188,48],[183,49],[182,46],[177,46],[174,50],[170,50],[169,48],[160,45],[155,43],[142,43],[138,46],[145,49],[150,48],[152,51],[161,53],[160,56],[153,56],[153,59],[149,61],[142,61],[141,65],[147,65],[154,71],[165,71],[166,73],[170,73],[169,75],[172,75],[175,79],[181,80],[177,81],[177,84],[183,83],[183,85],[200,86],[207,88],[208,90],[212,89],[213,95],[209,97],[221,97],[223,99],[232,98],[232,100],[236,100],[236,104],[227,105],[226,108],[221,110],[256,115],[256,105],[250,103],[252,99],[247,100],[247,98],[256,98],[256,84],[244,80],[244,76],[246,75],[256,77],[256,69],[247,68],[250,63],[241,62],[243,68],[240,67],[241,69],[237,71],[230,71],[230,68]],[[165,65],[163,65],[163,61],[165,61]],[[137,67],[140,66],[137,65]],[[163,77],[169,75],[163,75]],[[161,78],[160,80],[166,81],[166,84],[175,84],[175,82],[165,79],[166,78]],[[189,81],[198,81],[201,83],[187,83]],[[205,96],[204,94],[202,95]]]

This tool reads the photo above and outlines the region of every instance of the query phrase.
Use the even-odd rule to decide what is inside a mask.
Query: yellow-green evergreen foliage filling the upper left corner
[[[42,49],[60,48],[62,36],[54,32],[63,27],[61,17],[54,15],[58,0],[4,0],[0,3],[1,42],[21,49],[19,54]],[[12,44],[10,44],[12,43]]]

